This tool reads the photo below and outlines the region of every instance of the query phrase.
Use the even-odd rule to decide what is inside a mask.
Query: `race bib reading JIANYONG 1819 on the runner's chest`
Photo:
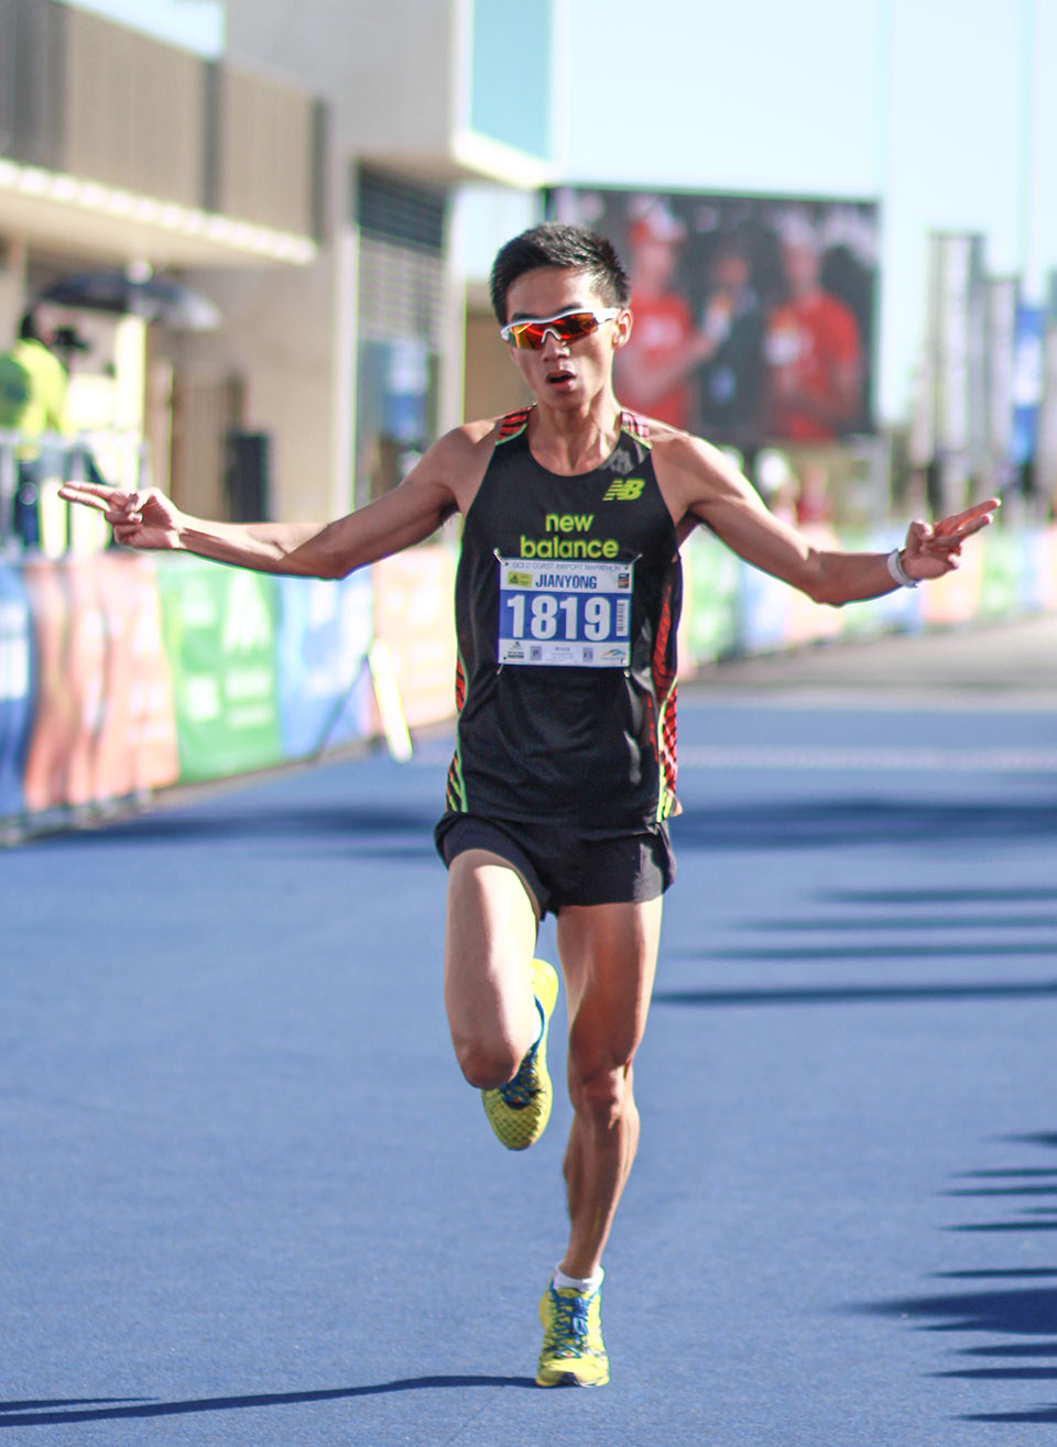
[[[500,559],[501,664],[627,669],[633,563]]]

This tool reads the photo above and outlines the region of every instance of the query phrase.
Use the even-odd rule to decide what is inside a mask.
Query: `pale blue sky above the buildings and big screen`
[[[213,0],[74,3],[223,49]],[[1057,268],[1057,88],[1044,84],[1057,0],[553,4],[559,179],[880,203],[882,418],[905,415],[921,356],[930,232],[982,233],[989,271],[1021,273],[1043,300]]]

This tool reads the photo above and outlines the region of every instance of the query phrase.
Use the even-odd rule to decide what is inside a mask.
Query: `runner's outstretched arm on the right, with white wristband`
[[[889,573],[886,553],[815,547],[765,506],[730,459],[699,438],[673,437],[666,443],[663,469],[683,528],[688,521],[705,522],[738,557],[818,603],[879,598],[899,586]],[[987,527],[998,506],[998,498],[987,498],[934,525],[912,522],[899,554],[906,576],[924,582],[956,569],[961,544]]]

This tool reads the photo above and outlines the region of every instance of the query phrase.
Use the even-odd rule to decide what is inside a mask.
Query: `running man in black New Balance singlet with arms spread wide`
[[[542,1386],[601,1386],[602,1250],[639,1139],[631,1065],[646,1026],[673,860],[679,544],[705,524],[820,603],[875,598],[957,567],[995,499],[902,548],[820,551],[775,518],[727,457],[621,410],[612,369],[631,336],[612,246],[546,224],[492,268],[501,334],[536,404],[466,423],[394,492],[327,525],[187,517],[155,491],[64,489],[119,543],[262,572],[343,577],[463,518],[456,579],[458,742],[437,848],[447,865],[445,1001],[455,1053],[510,1149],[550,1114],[536,961],[556,917],[573,1108],[569,1243],[543,1299]]]

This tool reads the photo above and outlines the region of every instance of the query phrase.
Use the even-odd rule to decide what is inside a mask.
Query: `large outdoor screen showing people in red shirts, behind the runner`
[[[560,187],[547,214],[631,273],[626,407],[744,453],[873,430],[876,203]]]

